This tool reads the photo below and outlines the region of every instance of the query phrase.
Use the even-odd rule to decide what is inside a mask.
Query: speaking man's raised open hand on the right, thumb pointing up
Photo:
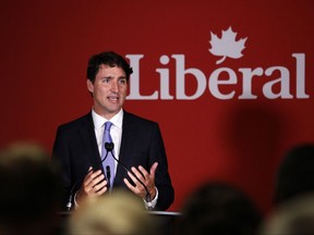
[[[136,168],[132,168],[131,171],[136,175],[136,177],[143,182],[143,184],[146,186],[146,188],[148,189],[152,199],[155,198],[156,196],[156,188],[155,188],[155,172],[156,169],[158,166],[158,163],[155,162],[150,170],[149,173],[142,166],[140,165],[137,169]],[[135,195],[145,198],[146,196],[146,190],[144,188],[144,186],[141,184],[141,182],[137,181],[136,177],[134,177],[134,175],[130,172],[128,172],[128,175],[131,177],[131,180],[134,182],[135,186],[133,186],[128,178],[123,178],[125,185],[128,186],[128,188],[130,188]]]

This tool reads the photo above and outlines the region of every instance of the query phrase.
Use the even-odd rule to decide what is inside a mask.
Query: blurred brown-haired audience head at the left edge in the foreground
[[[55,234],[61,202],[59,165],[35,144],[0,150],[0,234]]]

